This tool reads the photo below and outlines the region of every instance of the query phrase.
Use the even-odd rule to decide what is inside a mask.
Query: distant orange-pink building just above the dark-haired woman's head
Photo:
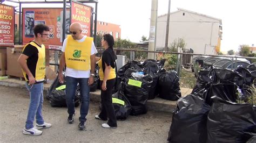
[[[93,27],[93,31],[94,31],[94,27]],[[106,33],[111,34],[114,40],[121,38],[120,25],[97,21],[97,34],[106,34]]]

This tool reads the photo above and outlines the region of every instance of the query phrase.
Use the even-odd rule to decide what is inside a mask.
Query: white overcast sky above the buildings
[[[98,2],[98,20],[121,25],[122,39],[139,42],[142,35],[149,37],[151,0]],[[168,2],[169,0],[158,0],[158,16],[167,13]],[[256,46],[255,6],[255,0],[171,0],[171,12],[181,8],[222,20],[221,51],[237,51],[242,44]]]

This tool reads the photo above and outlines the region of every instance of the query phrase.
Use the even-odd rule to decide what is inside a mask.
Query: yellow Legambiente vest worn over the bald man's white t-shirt
[[[66,67],[76,70],[90,70],[91,47],[93,38],[86,37],[83,42],[68,35],[65,48]]]

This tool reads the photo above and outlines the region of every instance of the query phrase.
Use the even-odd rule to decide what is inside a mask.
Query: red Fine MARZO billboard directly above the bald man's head
[[[71,3],[71,23],[82,24],[82,33],[91,36],[92,8],[77,2]]]

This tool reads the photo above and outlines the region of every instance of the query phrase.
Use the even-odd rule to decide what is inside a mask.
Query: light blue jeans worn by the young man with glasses
[[[42,115],[42,108],[44,102],[44,83],[37,83],[32,85],[28,85],[28,83],[26,83],[26,89],[29,90],[30,103],[25,128],[29,130],[30,128],[33,128],[33,121],[35,120],[35,116],[37,124],[44,124],[44,119]]]

